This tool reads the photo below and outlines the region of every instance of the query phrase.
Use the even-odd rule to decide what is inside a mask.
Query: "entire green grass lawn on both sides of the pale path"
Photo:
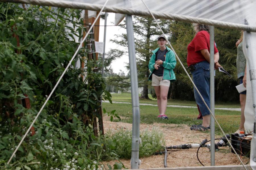
[[[131,102],[131,97],[129,93],[123,94],[113,94],[113,101],[123,101]],[[140,103],[152,103],[156,104],[155,100],[140,100]],[[168,105],[186,105],[186,106],[195,106],[193,101],[178,101],[178,100],[168,100]],[[238,105],[228,104],[225,105],[220,103],[218,107],[238,107]],[[122,116],[123,119],[121,122],[132,123],[132,105],[131,104],[119,104],[119,103],[102,103],[102,108],[105,108],[107,111],[116,110],[116,113],[119,116]],[[167,107],[166,115],[169,117],[168,120],[161,120],[156,118],[158,116],[158,107],[156,106],[140,106],[140,115],[141,123],[153,124],[154,122],[166,123],[166,124],[186,124],[191,126],[192,124],[200,124],[201,120],[197,120],[198,110],[197,108],[172,108]],[[239,111],[223,111],[215,110],[215,115],[220,123],[222,129],[225,133],[234,133],[240,123]],[[118,121],[118,120],[115,120]],[[187,128],[187,127],[186,127]],[[190,131],[190,129],[188,129]],[[216,134],[221,135],[220,129],[215,125]],[[210,133],[210,132],[207,132]]]

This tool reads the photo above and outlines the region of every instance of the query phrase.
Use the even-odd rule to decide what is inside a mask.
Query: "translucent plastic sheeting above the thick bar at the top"
[[[67,1],[67,0],[65,0]],[[151,11],[179,14],[212,20],[256,25],[255,0],[144,0]],[[72,2],[103,5],[105,0],[73,0]],[[107,6],[147,11],[141,0],[109,0]]]

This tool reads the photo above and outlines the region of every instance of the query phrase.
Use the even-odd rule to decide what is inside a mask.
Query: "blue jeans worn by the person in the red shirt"
[[[191,71],[191,74],[193,76],[193,81],[203,96],[203,99],[205,100],[206,104],[210,108],[210,64],[207,61],[202,61],[199,63],[196,63],[194,65],[195,70]],[[195,87],[194,87],[194,95],[195,95],[195,101],[197,105],[199,105],[199,109],[202,113],[202,116],[207,116],[210,114],[209,110],[203,103],[203,100],[201,99],[200,95],[197,93]]]

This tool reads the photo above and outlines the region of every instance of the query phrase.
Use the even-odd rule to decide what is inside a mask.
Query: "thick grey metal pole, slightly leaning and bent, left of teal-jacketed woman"
[[[135,44],[133,36],[133,20],[131,15],[125,15],[126,30],[129,51],[129,65],[131,75],[131,97],[133,110],[133,128],[132,128],[132,153],[131,169],[139,168],[139,144],[140,144],[140,108],[139,108],[139,91],[137,66],[135,58]]]

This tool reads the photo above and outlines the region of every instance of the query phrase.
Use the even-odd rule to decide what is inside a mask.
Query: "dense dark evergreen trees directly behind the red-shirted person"
[[[173,21],[170,24],[170,30],[172,32],[172,46],[181,59],[183,65],[187,67],[187,45],[195,36],[193,26],[190,23]],[[232,75],[232,77],[228,77],[216,70],[215,98],[220,101],[238,101],[239,94],[235,88],[238,83],[236,76],[237,49],[235,43],[240,37],[240,31],[215,27],[214,35],[214,40],[220,54],[219,63]],[[176,75],[176,82],[171,84],[171,93],[173,97],[176,99],[194,100],[193,85],[179,62],[177,62],[174,71]],[[190,73],[188,69],[187,71]]]

